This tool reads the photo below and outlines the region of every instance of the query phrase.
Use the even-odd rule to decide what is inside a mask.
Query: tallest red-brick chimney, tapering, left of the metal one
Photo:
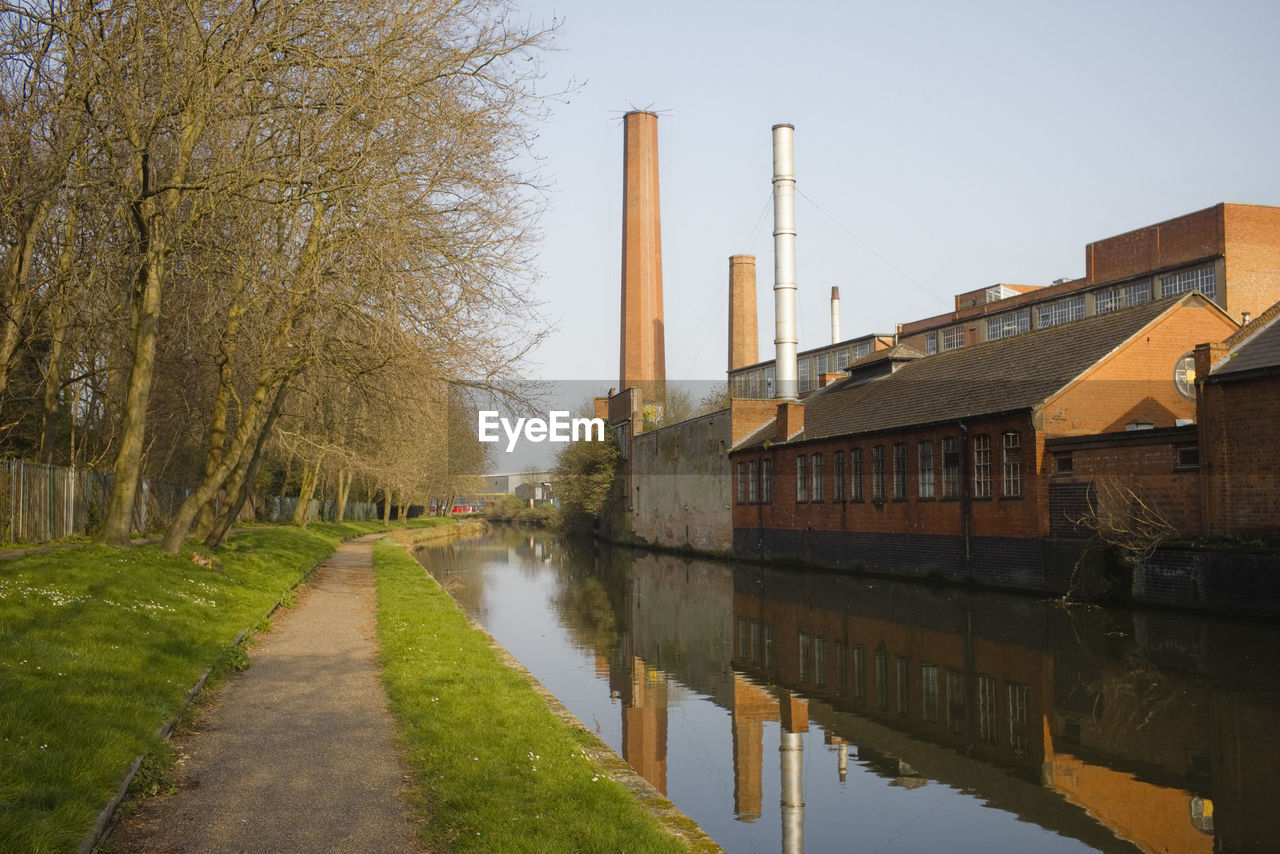
[[[622,388],[666,401],[662,319],[662,227],[658,216],[658,117],[622,117]]]

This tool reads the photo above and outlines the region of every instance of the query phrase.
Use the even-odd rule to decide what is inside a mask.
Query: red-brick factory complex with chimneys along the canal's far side
[[[842,338],[832,288],[831,341],[800,350],[792,136],[773,128],[774,359],[758,361],[755,259],[732,256],[732,407],[646,431],[655,374],[648,388],[623,374],[598,406],[623,457],[604,535],[1053,593],[1280,603],[1274,557],[1222,586],[1222,561],[1239,556],[1152,556],[1280,542],[1280,207],[1224,202],[1096,241],[1080,279],[969,291],[893,333]],[[623,342],[660,329],[660,296],[630,306]],[[1108,576],[1097,554],[1079,571],[1100,540],[1140,558],[1132,575]]]

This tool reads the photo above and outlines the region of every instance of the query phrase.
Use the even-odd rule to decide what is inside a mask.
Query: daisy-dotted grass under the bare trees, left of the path
[[[378,530],[370,526],[369,530]],[[212,551],[0,561],[0,851],[73,851],[236,636],[364,526],[264,528]]]

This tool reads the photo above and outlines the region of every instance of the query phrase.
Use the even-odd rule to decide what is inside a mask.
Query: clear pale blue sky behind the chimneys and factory
[[[659,113],[667,376],[722,380],[728,256],[773,357],[771,127],[795,125],[800,348],[1084,274],[1084,245],[1280,205],[1280,3],[527,1],[563,20],[530,375],[617,383],[622,114]]]

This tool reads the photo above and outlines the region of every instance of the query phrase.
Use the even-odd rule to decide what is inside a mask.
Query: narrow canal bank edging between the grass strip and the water
[[[468,530],[460,530],[463,528]],[[422,539],[415,539],[412,536],[413,531],[394,531],[396,535],[394,538],[397,543],[402,548],[404,548],[407,553],[412,554],[413,545],[407,543],[422,544],[426,539],[443,539],[443,536],[449,536],[452,539],[453,536],[483,533],[484,528],[485,528],[484,522],[476,522],[474,525],[465,524],[460,525],[457,529],[445,529],[445,531],[442,531],[442,536],[422,538]],[[429,579],[431,579],[430,574],[428,574],[425,570],[424,574]],[[431,579],[431,583],[438,584],[435,579]],[[529,668],[521,665],[509,652],[507,652],[507,649],[502,644],[499,644],[498,640],[493,635],[490,635],[489,631],[485,630],[483,625],[476,622],[476,620],[474,620],[471,615],[466,613],[461,607],[458,608],[458,613],[461,613],[462,617],[467,621],[467,625],[470,625],[472,629],[479,631],[485,638],[489,647],[494,650],[494,653],[498,657],[498,661],[500,661],[503,666],[506,666],[515,673],[520,675],[529,682],[529,685],[543,699],[543,702],[547,704],[550,712],[557,718],[559,718],[559,721],[563,725],[584,732],[591,740],[591,743],[596,745],[588,753],[591,761],[595,762],[611,780],[613,780],[623,789],[626,789],[631,794],[631,796],[636,800],[636,803],[639,803],[646,812],[649,812],[650,816],[653,816],[658,821],[658,825],[667,834],[682,841],[685,845],[689,846],[691,851],[698,851],[698,854],[714,854],[717,851],[723,854],[724,849],[722,849],[716,842],[716,840],[713,840],[698,825],[698,822],[695,822],[692,818],[681,812],[673,803],[671,803],[671,800],[668,800],[662,793],[659,793],[653,786],[653,784],[641,777],[636,772],[636,769],[632,768],[626,762],[626,759],[620,757],[608,745],[600,741],[599,736],[596,736],[590,729],[588,729],[586,725],[584,725],[582,721],[580,721],[577,716],[568,709],[568,707],[561,703],[554,694],[547,690],[547,686],[543,685],[529,671]]]

